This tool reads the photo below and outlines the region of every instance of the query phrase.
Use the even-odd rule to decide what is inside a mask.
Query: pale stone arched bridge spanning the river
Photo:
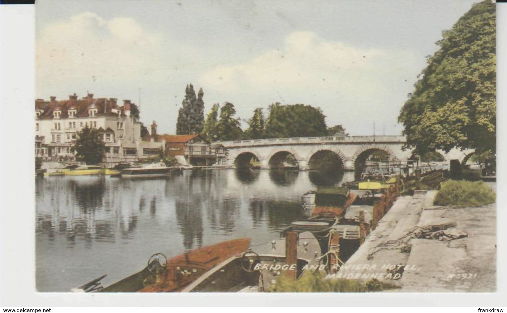
[[[412,150],[403,150],[403,136],[328,136],[302,138],[252,139],[221,142],[227,149],[227,165],[243,167],[252,158],[261,168],[276,168],[288,155],[297,160],[300,170],[312,169],[312,162],[333,155],[344,170],[354,170],[375,151],[384,151],[390,161],[406,161]],[[473,150],[439,151],[446,161],[466,161]]]

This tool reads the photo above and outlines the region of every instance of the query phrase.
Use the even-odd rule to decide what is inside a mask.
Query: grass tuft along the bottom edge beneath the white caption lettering
[[[324,273],[306,271],[297,281],[284,276],[278,277],[271,292],[373,292],[400,288],[394,284],[382,283],[377,279],[359,281],[356,279],[324,279]]]

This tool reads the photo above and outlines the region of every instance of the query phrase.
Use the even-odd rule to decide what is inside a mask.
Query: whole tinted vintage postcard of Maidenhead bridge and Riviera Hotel
[[[35,9],[38,292],[497,290],[490,0]]]

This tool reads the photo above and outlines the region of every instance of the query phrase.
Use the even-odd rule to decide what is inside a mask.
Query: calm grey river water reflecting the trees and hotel
[[[52,176],[35,183],[36,285],[68,292],[107,274],[109,285],[143,269],[157,252],[241,237],[279,238],[304,218],[301,195],[338,186],[354,173],[187,170],[163,179]]]

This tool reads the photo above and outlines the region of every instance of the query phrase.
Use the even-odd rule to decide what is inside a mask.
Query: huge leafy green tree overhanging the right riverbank
[[[438,41],[440,50],[399,116],[407,147],[495,151],[495,5],[476,4]]]

